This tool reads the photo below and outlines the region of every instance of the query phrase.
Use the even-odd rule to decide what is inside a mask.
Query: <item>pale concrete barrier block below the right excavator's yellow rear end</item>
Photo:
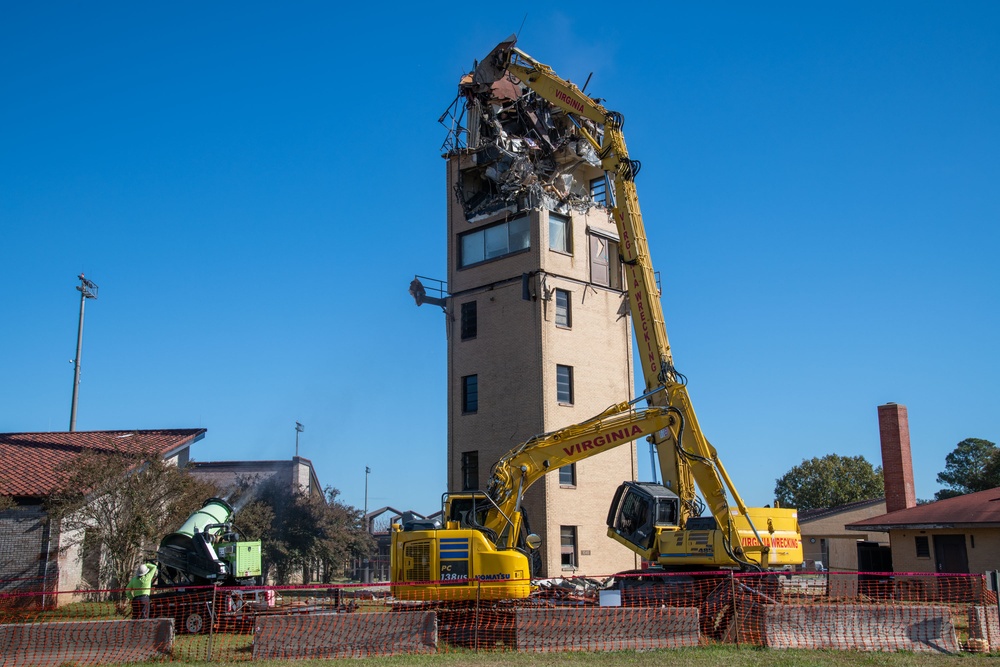
[[[767,605],[771,648],[958,653],[951,609],[943,605]]]

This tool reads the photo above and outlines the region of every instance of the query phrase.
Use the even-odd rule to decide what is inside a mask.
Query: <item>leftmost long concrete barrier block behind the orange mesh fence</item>
[[[0,625],[0,665],[102,665],[170,654],[169,618]]]

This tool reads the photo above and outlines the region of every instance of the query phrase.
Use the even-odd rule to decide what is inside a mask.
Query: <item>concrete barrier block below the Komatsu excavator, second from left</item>
[[[365,658],[434,653],[434,612],[260,616],[253,659]]]

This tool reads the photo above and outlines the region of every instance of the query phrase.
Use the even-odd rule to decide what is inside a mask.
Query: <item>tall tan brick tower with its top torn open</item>
[[[510,80],[467,77],[461,100],[482,122],[459,127],[445,156],[451,491],[485,488],[515,445],[633,396],[618,234],[596,156],[561,112]],[[543,540],[536,576],[636,567],[605,524],[615,489],[635,479],[635,451],[561,468],[528,491]]]

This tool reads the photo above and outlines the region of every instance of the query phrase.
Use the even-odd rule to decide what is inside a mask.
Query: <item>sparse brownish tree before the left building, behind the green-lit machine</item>
[[[116,449],[85,450],[61,468],[62,490],[46,501],[59,522],[64,545],[99,549],[93,588],[123,588],[136,566],[214,496],[214,486],[188,475],[156,453],[131,454]]]

